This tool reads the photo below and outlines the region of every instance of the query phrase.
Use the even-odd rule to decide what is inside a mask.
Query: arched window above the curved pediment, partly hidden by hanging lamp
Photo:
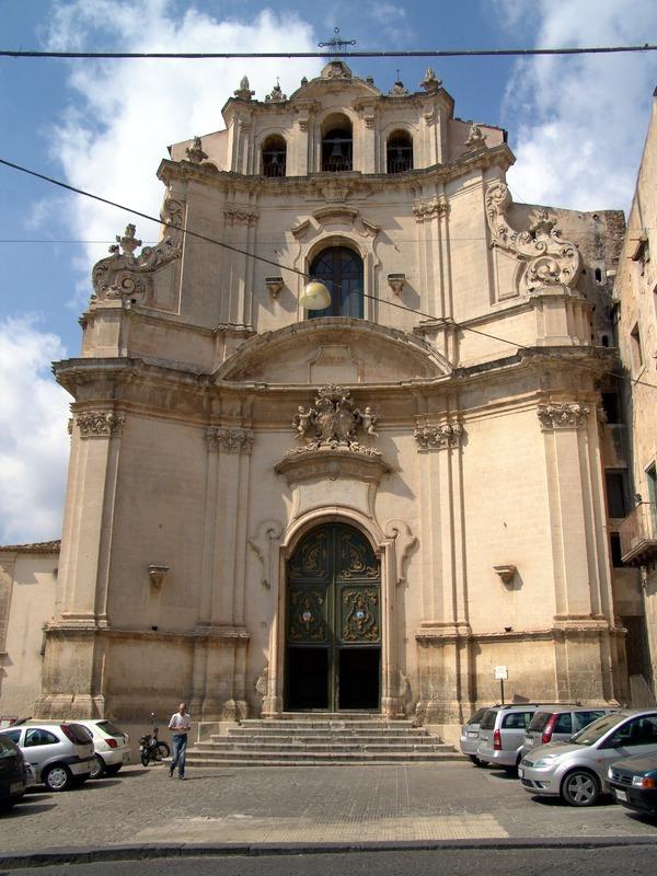
[[[313,258],[310,273],[331,292],[331,306],[311,316],[354,316],[362,319],[362,258],[347,246],[330,246]]]

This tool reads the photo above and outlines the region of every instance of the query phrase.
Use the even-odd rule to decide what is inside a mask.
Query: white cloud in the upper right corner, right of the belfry
[[[498,0],[511,28],[519,8],[541,47],[642,45],[657,26],[654,0]],[[517,155],[515,195],[574,209],[627,208],[648,125],[657,58],[541,56],[516,65],[505,125]]]

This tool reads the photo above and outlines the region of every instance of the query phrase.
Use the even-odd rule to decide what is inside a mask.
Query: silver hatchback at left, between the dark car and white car
[[[30,721],[0,730],[21,748],[37,783],[48,791],[68,791],[85,782],[94,763],[93,742],[73,722]]]

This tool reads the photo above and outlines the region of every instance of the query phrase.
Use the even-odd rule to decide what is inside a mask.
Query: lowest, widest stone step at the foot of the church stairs
[[[265,758],[254,757],[250,751],[197,751],[187,752],[189,766],[287,766],[314,765],[321,763],[424,763],[464,761],[468,758],[453,749],[451,751],[272,751]]]

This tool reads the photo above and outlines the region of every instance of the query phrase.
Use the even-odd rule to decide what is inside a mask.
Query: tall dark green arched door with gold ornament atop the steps
[[[361,532],[326,523],[287,563],[285,708],[380,704],[381,565]]]

